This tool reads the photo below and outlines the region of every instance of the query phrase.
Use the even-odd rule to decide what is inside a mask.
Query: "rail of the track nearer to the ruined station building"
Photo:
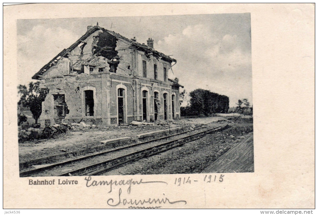
[[[71,163],[74,163],[74,162],[83,161],[83,160],[86,160],[86,159],[89,159],[89,158],[93,158],[93,157],[96,157],[96,156],[107,155],[107,154],[110,154],[110,153],[113,153],[113,152],[116,152],[116,151],[120,151],[120,150],[123,150],[123,149],[129,149],[129,148],[141,146],[141,145],[144,145],[144,144],[147,144],[147,143],[151,143],[151,142],[161,141],[161,140],[164,140],[164,139],[167,140],[167,139],[169,139],[169,138],[171,138],[173,136],[183,135],[183,134],[192,132],[194,130],[203,129],[203,128],[206,128],[206,127],[207,126],[199,127],[199,128],[195,128],[193,130],[184,131],[184,132],[176,133],[176,134],[173,134],[173,135],[163,136],[163,137],[152,139],[152,140],[148,140],[148,141],[145,141],[145,142],[135,143],[135,144],[132,144],[132,145],[129,145],[129,146],[124,146],[124,147],[111,149],[111,150],[107,150],[107,151],[102,151],[102,152],[95,153],[95,154],[92,154],[92,155],[82,156],[82,157],[79,157],[79,158],[75,158],[75,159],[71,159],[71,160],[67,160],[67,161],[63,161],[63,162],[59,162],[59,163],[48,164],[48,165],[46,165],[44,167],[40,167],[40,168],[37,168],[37,169],[32,169],[32,170],[28,170],[28,171],[22,171],[22,172],[20,172],[20,177],[34,176],[34,175],[37,175],[40,172],[43,172],[45,170],[50,170],[50,169],[53,169],[55,167],[64,166],[64,165],[71,164]]]

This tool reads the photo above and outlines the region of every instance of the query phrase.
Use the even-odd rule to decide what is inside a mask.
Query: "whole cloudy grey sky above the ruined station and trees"
[[[252,103],[250,14],[152,17],[24,19],[17,21],[18,81],[27,84],[38,70],[96,25],[136,37],[177,60],[172,67],[187,92],[197,88]]]

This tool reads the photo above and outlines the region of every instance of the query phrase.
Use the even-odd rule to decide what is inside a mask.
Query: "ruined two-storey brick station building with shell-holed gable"
[[[179,87],[168,79],[175,59],[99,26],[43,66],[32,79],[49,89],[41,127],[57,122],[124,124],[177,119]]]

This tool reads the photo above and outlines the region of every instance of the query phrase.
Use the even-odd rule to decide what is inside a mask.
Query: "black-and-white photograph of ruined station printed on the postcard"
[[[17,20],[20,177],[253,172],[249,13]]]

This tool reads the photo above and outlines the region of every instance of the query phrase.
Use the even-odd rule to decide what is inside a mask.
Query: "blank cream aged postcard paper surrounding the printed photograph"
[[[314,4],[27,4],[6,6],[3,13],[4,208],[128,208],[112,206],[119,196],[121,201],[175,202],[162,208],[315,207]],[[254,172],[224,173],[222,182],[210,184],[204,181],[206,174],[92,176],[97,181],[158,182],[112,190],[87,187],[85,177],[67,177],[78,184],[54,186],[31,186],[28,177],[19,177],[18,19],[216,13],[251,14]],[[177,186],[179,177],[193,181]]]

